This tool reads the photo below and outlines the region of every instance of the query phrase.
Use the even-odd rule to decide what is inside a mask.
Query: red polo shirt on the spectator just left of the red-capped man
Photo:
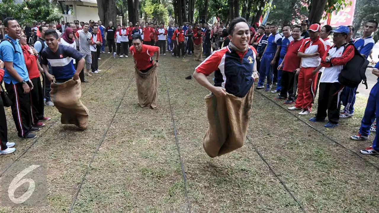
[[[298,57],[298,52],[304,39],[293,40],[288,44],[287,53],[284,56],[283,71],[293,72],[300,67],[301,58]]]

